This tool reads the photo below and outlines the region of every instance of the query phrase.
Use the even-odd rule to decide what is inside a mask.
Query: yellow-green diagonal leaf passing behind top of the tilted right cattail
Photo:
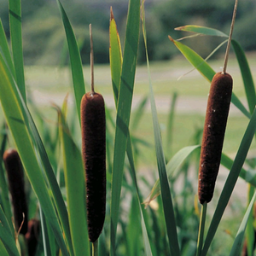
[[[177,40],[174,40],[170,36],[169,39],[177,47],[177,49],[180,50],[184,57],[202,74],[202,76],[211,82],[215,72],[212,67],[209,66],[207,61],[205,61],[200,55],[195,53],[195,51],[190,49],[188,46],[178,42]],[[241,111],[241,113],[250,118],[251,114],[243,106],[234,92],[232,93],[231,102]]]

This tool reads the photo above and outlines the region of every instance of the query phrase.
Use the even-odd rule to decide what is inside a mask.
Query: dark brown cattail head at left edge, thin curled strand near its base
[[[15,227],[20,234],[27,231],[27,205],[24,187],[24,173],[20,156],[15,149],[8,149],[3,154],[3,162],[9,180],[9,191],[15,215]],[[21,227],[21,228],[20,228]]]

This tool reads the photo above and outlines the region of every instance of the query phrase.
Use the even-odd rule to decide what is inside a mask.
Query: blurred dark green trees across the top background
[[[89,28],[93,26],[94,51],[96,63],[108,63],[109,8],[117,21],[121,42],[124,40],[127,0],[63,0],[64,8],[71,20],[79,40],[82,61],[89,63]],[[170,47],[168,35],[181,38],[181,32],[174,31],[177,26],[200,25],[217,28],[229,33],[234,1],[215,0],[146,0],[146,27],[148,33],[148,55],[150,61],[171,60],[177,49]],[[8,1],[0,0],[0,17],[9,35]],[[241,19],[242,17],[242,19]],[[60,13],[55,0],[22,0],[23,44],[26,65],[67,64],[67,43]],[[239,3],[234,38],[246,51],[256,46],[256,2]],[[188,35],[188,33],[186,34]],[[143,40],[141,33],[141,40]],[[219,38],[204,38],[204,44],[197,44],[201,38],[189,39],[193,47],[203,57],[218,45]],[[187,44],[187,43],[186,43]],[[222,49],[224,51],[224,47]],[[145,61],[144,47],[140,44],[139,63]]]

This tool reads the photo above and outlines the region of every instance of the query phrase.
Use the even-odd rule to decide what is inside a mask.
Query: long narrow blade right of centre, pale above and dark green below
[[[143,2],[144,4],[144,2]],[[172,205],[172,195],[168,183],[167,173],[166,173],[166,160],[164,156],[164,151],[162,148],[161,136],[160,136],[160,126],[157,117],[157,111],[154,102],[154,92],[153,86],[150,78],[150,69],[148,61],[148,47],[147,47],[147,35],[146,35],[146,26],[145,26],[145,16],[144,16],[144,5],[143,5],[143,38],[146,49],[146,58],[147,58],[147,67],[148,67],[148,84],[149,84],[149,95],[150,95],[150,104],[151,112],[153,117],[153,126],[154,126],[154,143],[155,143],[155,152],[157,159],[157,166],[160,176],[160,190],[161,197],[164,207],[164,215],[166,220],[166,231],[169,240],[169,247],[171,255],[180,255],[180,249],[177,241],[177,225],[174,214],[174,208]]]

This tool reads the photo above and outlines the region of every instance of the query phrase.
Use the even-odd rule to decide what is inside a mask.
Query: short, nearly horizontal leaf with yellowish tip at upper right
[[[186,25],[186,26],[176,27],[175,30],[185,31],[185,32],[195,32],[195,33],[206,35],[206,36],[216,36],[216,37],[224,37],[224,38],[229,37],[224,32],[221,32],[218,29],[210,28],[207,26]]]

